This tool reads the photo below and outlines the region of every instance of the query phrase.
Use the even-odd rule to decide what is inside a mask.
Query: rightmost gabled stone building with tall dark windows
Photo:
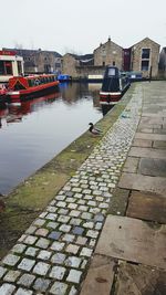
[[[145,38],[131,48],[131,71],[139,71],[143,77],[156,77],[158,74],[160,45]]]

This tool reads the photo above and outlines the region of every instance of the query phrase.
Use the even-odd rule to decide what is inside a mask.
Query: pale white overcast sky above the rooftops
[[[166,0],[0,0],[0,49],[93,53],[107,38],[166,46]]]

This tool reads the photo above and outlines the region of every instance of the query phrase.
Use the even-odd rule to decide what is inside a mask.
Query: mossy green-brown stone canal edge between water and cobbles
[[[129,102],[134,88],[135,85],[132,85],[123,99],[97,123],[103,136]],[[95,137],[86,131],[6,198],[6,211],[0,214],[0,257],[11,249],[49,201],[74,175],[100,140],[100,136]]]

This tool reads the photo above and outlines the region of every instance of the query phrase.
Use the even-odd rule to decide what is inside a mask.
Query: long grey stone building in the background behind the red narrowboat
[[[8,51],[9,49],[6,49]],[[29,73],[59,73],[61,72],[61,54],[55,51],[13,49],[23,57],[24,72]]]

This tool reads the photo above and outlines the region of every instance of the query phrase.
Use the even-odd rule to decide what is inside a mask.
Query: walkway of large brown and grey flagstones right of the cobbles
[[[142,86],[138,128],[81,295],[166,294],[166,83]]]

